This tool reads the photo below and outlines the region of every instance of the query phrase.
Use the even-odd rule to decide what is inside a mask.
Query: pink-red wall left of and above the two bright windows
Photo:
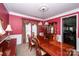
[[[32,18],[24,18],[21,16],[9,15],[9,23],[11,24],[11,27],[12,27],[11,34],[22,34],[23,33],[22,32],[23,31],[22,20],[26,20],[25,22],[29,21],[31,23],[40,22]]]

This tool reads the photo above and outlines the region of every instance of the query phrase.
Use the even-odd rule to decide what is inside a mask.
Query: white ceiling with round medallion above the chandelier
[[[79,8],[79,3],[4,3],[4,5],[9,12],[41,19]]]

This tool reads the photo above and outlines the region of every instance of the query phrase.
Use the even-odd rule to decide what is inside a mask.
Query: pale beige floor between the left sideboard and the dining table
[[[36,51],[33,48],[31,51],[28,48],[28,44],[22,44],[17,46],[17,56],[36,56]]]

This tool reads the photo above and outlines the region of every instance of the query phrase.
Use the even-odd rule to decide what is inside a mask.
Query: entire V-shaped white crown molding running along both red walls
[[[50,19],[53,19],[53,18],[61,17],[61,16],[64,16],[64,15],[67,15],[67,14],[75,13],[75,12],[79,12],[79,8],[76,8],[76,9],[73,9],[73,10],[70,10],[70,11],[58,14],[58,15],[53,16],[53,17],[49,17],[47,19],[41,19],[41,18],[31,17],[31,16],[20,14],[20,13],[15,13],[15,12],[12,12],[12,11],[9,11],[9,14],[16,15],[16,16],[21,16],[21,17],[26,17],[26,18],[32,18],[32,19],[39,20],[39,21],[47,21],[47,20],[50,20]]]

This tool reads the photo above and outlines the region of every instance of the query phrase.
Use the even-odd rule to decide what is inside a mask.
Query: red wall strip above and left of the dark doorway
[[[48,22],[49,23],[57,22],[57,34],[60,35],[61,34],[61,17],[74,15],[74,14],[78,14],[78,20],[79,20],[79,12],[75,12],[75,13],[72,13],[72,14],[67,14],[67,15],[63,15],[63,16],[60,16],[60,17],[52,18],[52,19],[48,20]],[[79,21],[78,21],[78,24],[79,24]],[[78,26],[78,37],[79,37],[79,26]]]

